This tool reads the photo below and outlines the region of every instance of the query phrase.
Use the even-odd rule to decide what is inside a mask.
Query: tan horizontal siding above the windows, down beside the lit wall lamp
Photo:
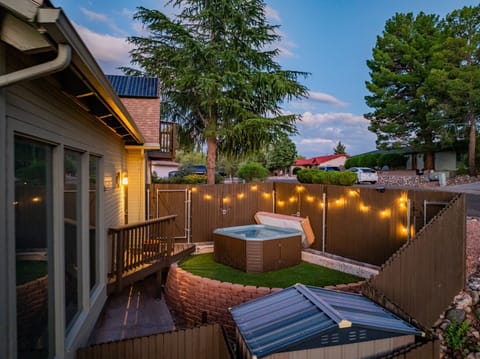
[[[41,81],[34,83],[42,84]],[[10,89],[7,113],[10,124],[18,132],[63,143],[74,149],[88,150],[103,157],[105,176],[113,181],[113,189],[105,191],[105,228],[122,224],[123,192],[115,184],[116,173],[126,167],[121,139],[51,87],[12,86]],[[55,103],[44,101],[45,93],[49,93],[49,98],[54,98]]]

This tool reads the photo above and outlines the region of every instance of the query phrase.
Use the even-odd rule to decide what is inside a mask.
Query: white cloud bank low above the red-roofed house
[[[375,149],[375,135],[368,131],[369,121],[361,115],[346,112],[305,112],[297,122],[298,136],[293,140],[297,152],[307,158],[333,153],[341,141],[349,155]]]

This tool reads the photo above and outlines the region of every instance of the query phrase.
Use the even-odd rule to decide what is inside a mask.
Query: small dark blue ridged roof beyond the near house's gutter
[[[158,98],[158,79],[155,77],[107,75],[120,97]]]

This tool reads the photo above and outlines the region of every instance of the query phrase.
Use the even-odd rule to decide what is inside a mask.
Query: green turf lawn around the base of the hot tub
[[[215,262],[213,253],[192,255],[179,264],[192,274],[244,285],[269,288],[287,288],[296,283],[323,287],[327,285],[358,282],[362,278],[325,268],[308,262],[274,272],[246,273]]]

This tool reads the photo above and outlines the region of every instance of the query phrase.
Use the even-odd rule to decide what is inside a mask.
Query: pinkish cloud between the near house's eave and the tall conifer
[[[118,66],[129,65],[129,51],[132,46],[124,37],[99,34],[82,25],[76,23],[74,25],[93,57],[102,65],[106,73],[111,73]]]

